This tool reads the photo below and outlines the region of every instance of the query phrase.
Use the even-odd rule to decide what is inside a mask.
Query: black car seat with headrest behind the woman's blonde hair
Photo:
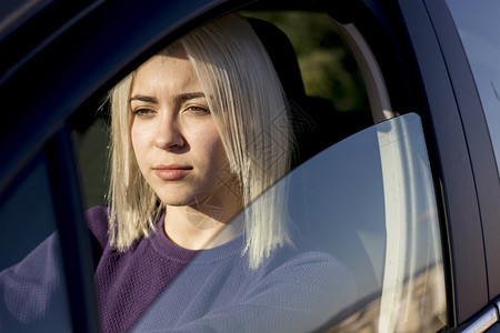
[[[296,51],[284,32],[268,21],[248,20],[268,51],[288,98],[297,143],[292,168],[372,124],[361,110],[341,112],[330,100],[307,95]]]

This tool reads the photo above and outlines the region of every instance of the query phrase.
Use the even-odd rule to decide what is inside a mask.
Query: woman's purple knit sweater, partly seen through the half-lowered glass
[[[312,331],[354,300],[350,272],[306,240],[294,240],[293,250],[273,251],[252,271],[247,255],[241,255],[242,236],[214,249],[191,251],[171,243],[162,222],[157,224],[158,232],[117,252],[109,246],[106,208],[88,211],[89,228],[102,249],[96,287],[103,332]],[[33,264],[30,256],[40,262],[56,255],[38,249],[18,266],[27,271]],[[57,293],[57,274],[44,276],[39,281],[44,292],[34,296],[47,304],[38,309],[37,317],[50,312],[48,300],[54,297],[47,294]],[[0,273],[0,291],[9,294],[8,285],[14,280],[12,272]],[[23,321],[29,322],[30,311],[24,312]]]

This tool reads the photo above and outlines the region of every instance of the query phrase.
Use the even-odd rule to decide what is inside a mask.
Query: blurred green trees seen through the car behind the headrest
[[[297,52],[306,93],[331,100],[339,111],[369,110],[363,80],[332,19],[304,11],[243,11],[272,22]]]

